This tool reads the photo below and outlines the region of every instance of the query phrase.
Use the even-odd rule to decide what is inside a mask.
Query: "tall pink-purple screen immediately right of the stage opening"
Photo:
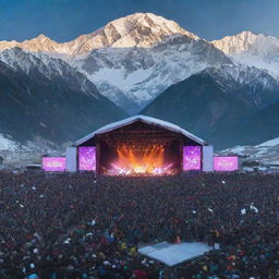
[[[201,170],[201,146],[183,146],[183,170]]]

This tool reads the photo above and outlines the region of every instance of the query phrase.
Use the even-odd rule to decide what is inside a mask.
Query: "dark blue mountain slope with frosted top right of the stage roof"
[[[266,140],[263,131],[279,124],[270,110],[278,93],[279,83],[255,68],[211,68],[170,86],[142,113],[174,122],[221,149]]]

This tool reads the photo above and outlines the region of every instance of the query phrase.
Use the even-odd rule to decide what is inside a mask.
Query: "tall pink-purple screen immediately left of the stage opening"
[[[78,147],[78,169],[86,171],[96,171],[96,147]]]

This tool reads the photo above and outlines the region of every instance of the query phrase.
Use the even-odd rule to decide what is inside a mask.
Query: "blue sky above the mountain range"
[[[279,0],[0,0],[0,40],[68,41],[111,20],[153,12],[205,39],[244,29],[279,37]]]

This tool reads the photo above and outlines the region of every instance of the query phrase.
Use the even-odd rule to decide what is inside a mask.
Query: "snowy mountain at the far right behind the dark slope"
[[[211,44],[232,60],[266,70],[279,78],[279,39],[248,31],[227,36]]]

